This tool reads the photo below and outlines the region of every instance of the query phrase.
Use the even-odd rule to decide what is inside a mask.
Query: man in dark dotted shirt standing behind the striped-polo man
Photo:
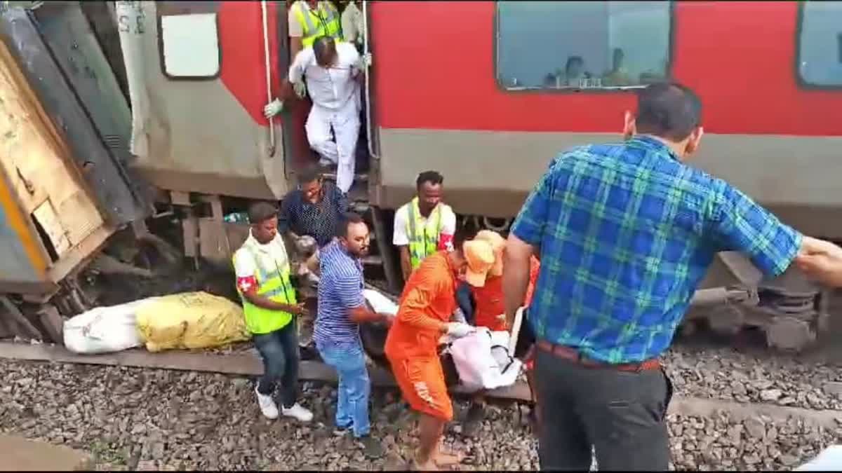
[[[319,248],[333,241],[339,219],[349,205],[334,183],[324,181],[315,165],[301,169],[296,178],[298,189],[281,200],[278,231],[292,243],[290,266],[298,277],[299,293],[306,306],[315,311]],[[314,318],[311,311],[296,319],[301,348],[312,346]]]

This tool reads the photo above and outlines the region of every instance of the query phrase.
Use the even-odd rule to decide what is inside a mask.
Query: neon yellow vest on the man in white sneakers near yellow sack
[[[258,257],[258,249],[254,247],[257,244],[251,240],[247,240],[242,245],[248,251],[248,257],[254,258],[254,277],[258,280],[258,295],[261,295],[274,302],[283,304],[296,304],[296,290],[290,283],[290,267],[285,264],[284,268],[280,268],[277,262],[274,262],[274,268],[262,268],[260,264],[261,258]],[[283,243],[279,243],[283,244]],[[234,266],[237,266],[237,252],[234,253]],[[272,311],[258,307],[249,302],[242,296],[242,292],[237,288],[237,294],[242,300],[242,312],[246,317],[246,327],[255,334],[274,332],[286,327],[292,321],[292,314],[285,311]]]

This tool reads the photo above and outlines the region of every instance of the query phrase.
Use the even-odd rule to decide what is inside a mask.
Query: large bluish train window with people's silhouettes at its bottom
[[[498,81],[509,90],[658,81],[669,67],[671,13],[671,2],[498,2]]]

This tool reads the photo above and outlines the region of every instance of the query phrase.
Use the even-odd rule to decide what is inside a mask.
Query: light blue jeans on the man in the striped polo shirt
[[[333,366],[339,378],[336,426],[353,428],[354,437],[370,432],[368,399],[371,383],[365,368],[365,354],[360,344],[317,343],[318,353]]]

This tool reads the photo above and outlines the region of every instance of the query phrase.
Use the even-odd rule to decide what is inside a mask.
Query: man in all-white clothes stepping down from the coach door
[[[370,54],[360,56],[354,45],[319,36],[312,47],[296,55],[285,79],[300,96],[306,80],[313,102],[305,124],[307,141],[322,157],[320,165],[337,165],[336,185],[344,194],[354,183],[360,137],[360,79],[364,77],[360,72],[370,63]],[[284,103],[275,98],[264,107],[264,114],[272,117],[283,108]],[[331,139],[332,131],[336,141]]]

